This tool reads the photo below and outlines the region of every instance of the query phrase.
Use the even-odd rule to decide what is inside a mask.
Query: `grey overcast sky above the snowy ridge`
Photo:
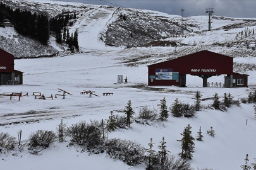
[[[214,15],[237,18],[256,18],[256,0],[58,0],[86,4],[116,5],[125,8],[150,9],[184,16],[205,15],[206,8],[214,8]],[[116,5],[114,5],[116,4]]]

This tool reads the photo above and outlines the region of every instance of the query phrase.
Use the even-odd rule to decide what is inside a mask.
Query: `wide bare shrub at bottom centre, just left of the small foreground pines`
[[[130,166],[142,164],[145,150],[142,145],[131,140],[110,139],[106,142],[107,154],[112,159],[118,159]]]

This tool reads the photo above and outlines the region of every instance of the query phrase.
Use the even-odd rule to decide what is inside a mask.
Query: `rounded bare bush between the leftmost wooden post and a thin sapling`
[[[47,130],[37,130],[31,133],[28,137],[30,147],[49,147],[50,144],[56,141],[57,137],[54,132]]]

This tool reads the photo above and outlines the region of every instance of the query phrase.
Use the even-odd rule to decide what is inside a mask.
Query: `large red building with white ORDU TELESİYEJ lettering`
[[[186,74],[202,77],[226,74],[224,87],[247,87],[248,75],[233,72],[233,57],[203,50],[177,59],[148,65],[149,86],[186,86]],[[243,81],[243,83],[241,83]],[[232,82],[232,83],[231,83]]]

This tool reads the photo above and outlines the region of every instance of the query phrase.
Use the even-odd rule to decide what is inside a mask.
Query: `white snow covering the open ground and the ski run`
[[[51,3],[51,1],[46,1]],[[212,103],[214,93],[219,94],[221,100],[224,93],[231,93],[234,99],[248,96],[254,91],[256,85],[256,72],[243,72],[250,74],[248,77],[248,88],[202,88],[202,79],[197,76],[187,75],[187,88],[178,87],[148,87],[147,65],[161,62],[173,55],[174,47],[150,47],[150,48],[117,48],[105,47],[99,42],[99,32],[106,28],[114,9],[101,9],[90,11],[90,20],[80,20],[79,25],[73,26],[73,31],[78,28],[79,45],[83,53],[68,55],[65,57],[22,59],[15,60],[15,69],[24,72],[23,85],[0,86],[0,93],[27,93],[18,101],[17,97],[11,100],[8,97],[0,98],[0,132],[8,132],[17,137],[17,132],[22,130],[22,142],[28,140],[30,133],[36,130],[56,131],[61,119],[68,126],[78,123],[80,120],[107,119],[110,111],[114,115],[121,115],[118,111],[123,110],[128,101],[131,100],[135,117],[142,106],[159,108],[160,100],[166,98],[168,106],[178,98],[183,103],[193,104],[196,91],[203,95],[203,105]],[[146,11],[147,12],[147,11]],[[157,12],[152,12],[156,15]],[[161,14],[161,13],[159,13]],[[104,16],[104,21],[97,20],[96,16]],[[173,18],[179,18],[173,16]],[[199,28],[205,27],[207,22],[204,16],[193,16],[197,20]],[[202,20],[198,20],[198,19]],[[178,20],[178,19],[177,19]],[[179,19],[180,20],[180,19]],[[219,23],[218,23],[219,21]],[[240,23],[241,20],[228,20],[228,24]],[[205,24],[203,24],[205,23]],[[83,26],[82,26],[83,25]],[[214,20],[214,28],[225,24],[221,20]],[[252,27],[253,28],[253,27]],[[251,29],[252,29],[251,28]],[[207,28],[204,28],[205,30]],[[204,30],[202,29],[202,30]],[[244,30],[239,28],[238,31]],[[209,41],[225,42],[225,31],[210,31],[204,35],[183,38],[183,43],[207,44]],[[9,36],[11,37],[11,35]],[[218,38],[217,38],[218,37]],[[222,37],[222,38],[220,38]],[[217,38],[217,39],[216,39]],[[55,46],[55,43],[51,43]],[[55,47],[59,49],[59,47]],[[195,47],[196,48],[196,47]],[[61,49],[59,49],[61,50]],[[215,52],[221,49],[217,48]],[[124,61],[130,57],[143,57],[154,55],[155,57],[140,60],[134,67],[128,67]],[[142,61],[142,62],[141,62]],[[245,64],[256,64],[255,58],[236,57],[234,62]],[[136,62],[135,62],[136,63]],[[143,63],[143,64],[142,64]],[[118,84],[118,75],[127,76],[128,83]],[[209,82],[223,82],[224,75],[210,77]],[[72,95],[66,94],[66,98],[48,98],[46,100],[35,99],[33,92],[40,92],[46,97],[55,97],[62,94],[59,89],[64,89]],[[88,94],[80,94],[83,90],[95,91],[100,97]],[[111,96],[103,96],[102,93],[114,93]],[[248,125],[246,121],[248,120]],[[193,137],[197,137],[199,127],[202,127],[204,142],[195,141],[195,153],[190,161],[195,169],[209,167],[212,169],[241,169],[244,164],[245,155],[249,155],[250,162],[256,158],[255,150],[255,128],[256,120],[252,104],[242,104],[241,107],[232,106],[227,112],[216,110],[202,110],[197,112],[196,118],[174,118],[169,116],[166,122],[152,122],[151,125],[132,123],[127,130],[119,129],[109,133],[109,138],[121,138],[135,140],[148,148],[150,138],[155,143],[154,149],[165,137],[167,149],[176,157],[181,152],[180,133],[184,127],[192,126]],[[207,130],[213,127],[216,131],[214,138],[207,135]],[[43,150],[42,155],[35,156],[28,150],[15,150],[0,154],[1,169],[145,169],[143,166],[127,166],[121,161],[113,161],[106,153],[99,155],[88,155],[80,152],[80,148],[66,147],[68,142],[55,142],[48,149]]]

